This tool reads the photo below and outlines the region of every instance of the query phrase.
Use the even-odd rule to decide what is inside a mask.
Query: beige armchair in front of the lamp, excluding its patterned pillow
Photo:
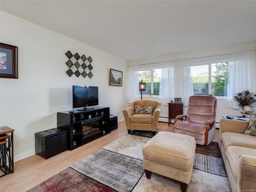
[[[153,115],[150,114],[134,114],[134,106],[153,106]],[[157,130],[157,123],[161,112],[161,103],[151,100],[138,100],[130,104],[129,108],[123,110],[128,133],[131,130],[153,131]]]

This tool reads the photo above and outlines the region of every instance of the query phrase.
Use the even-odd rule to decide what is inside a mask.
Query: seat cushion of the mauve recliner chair
[[[206,124],[194,123],[190,121],[177,121],[175,123],[175,128],[180,130],[185,130],[189,132],[205,134]]]

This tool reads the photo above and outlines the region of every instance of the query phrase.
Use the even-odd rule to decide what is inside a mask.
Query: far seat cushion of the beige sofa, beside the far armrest
[[[241,133],[225,132],[221,134],[221,140],[227,146],[241,146],[256,149],[256,137]]]

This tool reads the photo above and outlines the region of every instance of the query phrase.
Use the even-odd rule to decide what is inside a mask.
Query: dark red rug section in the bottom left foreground
[[[66,168],[62,172],[47,179],[28,190],[29,192],[114,192],[115,190],[102,183],[80,174],[72,168]]]

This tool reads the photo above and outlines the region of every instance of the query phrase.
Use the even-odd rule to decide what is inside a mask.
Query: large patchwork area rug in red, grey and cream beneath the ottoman
[[[150,138],[125,135],[29,191],[180,191],[179,182],[173,179],[154,173],[150,180],[146,179],[142,167],[142,146],[148,140]],[[194,166],[199,169],[193,169],[187,192],[230,192],[228,178],[207,173],[216,172],[217,167],[212,165],[216,162],[203,160],[207,156],[204,154],[197,153],[196,156]],[[206,161],[212,161],[210,168]]]

